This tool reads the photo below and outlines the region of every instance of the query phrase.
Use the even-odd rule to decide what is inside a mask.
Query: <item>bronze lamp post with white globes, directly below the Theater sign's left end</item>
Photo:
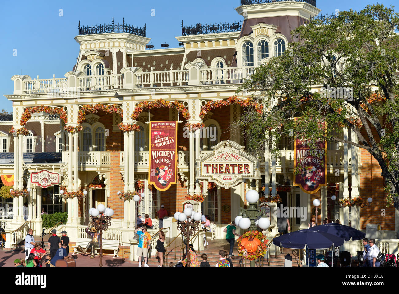
[[[201,213],[194,213],[190,208],[184,209],[183,213],[176,212],[174,218],[177,222],[177,229],[182,231],[182,236],[187,238],[186,242],[186,266],[190,266],[190,236],[194,236],[195,232],[199,230],[199,221],[201,220]],[[194,222],[192,221],[194,219]]]

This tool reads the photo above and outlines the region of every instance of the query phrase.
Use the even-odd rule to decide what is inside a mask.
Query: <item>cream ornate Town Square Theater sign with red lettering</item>
[[[218,186],[233,187],[245,179],[261,179],[259,159],[244,151],[234,141],[221,141],[211,147],[213,151],[197,159],[196,176]]]

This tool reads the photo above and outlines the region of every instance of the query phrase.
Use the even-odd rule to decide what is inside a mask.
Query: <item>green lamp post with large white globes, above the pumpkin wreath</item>
[[[249,229],[250,231],[257,230],[257,226],[262,230],[269,228],[270,220],[266,217],[265,209],[259,209],[257,207],[259,193],[255,190],[249,190],[245,194],[245,198],[249,203],[249,208],[244,209],[240,207],[240,213],[234,220],[235,224],[243,230]],[[256,221],[259,217],[261,218]],[[255,260],[251,260],[251,266],[255,266]]]

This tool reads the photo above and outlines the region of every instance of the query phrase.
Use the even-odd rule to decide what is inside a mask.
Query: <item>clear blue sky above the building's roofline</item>
[[[397,0],[379,0],[385,6],[394,5]],[[340,11],[361,10],[377,0],[316,0],[322,14]],[[142,27],[147,24],[146,36],[160,49],[161,43],[178,47],[174,38],[181,35],[181,23],[215,23],[241,21],[242,16],[234,8],[240,0],[148,0],[148,1],[3,1],[0,18],[0,52],[3,62],[0,67],[0,93],[12,94],[15,74],[30,75],[41,79],[63,77],[72,70],[79,53],[79,46],[73,39],[77,35],[79,20],[82,26],[112,22]],[[59,10],[63,16],[59,16]],[[155,16],[151,16],[151,10]],[[399,11],[398,7],[395,8]],[[14,49],[17,56],[13,56]],[[1,106],[12,111],[12,103],[0,96]]]

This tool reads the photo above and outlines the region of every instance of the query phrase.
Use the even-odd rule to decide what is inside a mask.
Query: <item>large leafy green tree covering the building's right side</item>
[[[237,90],[265,106],[261,115],[246,109],[233,125],[242,127],[249,151],[261,155],[265,141],[283,134],[309,139],[311,150],[319,138],[365,149],[381,167],[387,205],[399,209],[398,26],[394,7],[372,5],[292,31],[284,54]],[[358,141],[337,135],[344,127]]]

